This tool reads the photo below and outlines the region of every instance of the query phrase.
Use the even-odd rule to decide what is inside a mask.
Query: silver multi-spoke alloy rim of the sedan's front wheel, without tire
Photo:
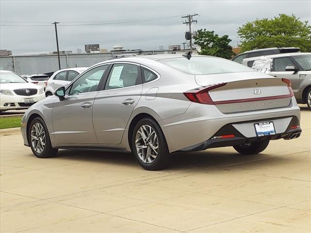
[[[37,153],[42,153],[45,147],[45,131],[43,126],[36,122],[31,128],[31,144]]]

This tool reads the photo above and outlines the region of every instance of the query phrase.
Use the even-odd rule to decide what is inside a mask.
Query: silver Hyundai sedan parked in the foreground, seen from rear
[[[287,79],[209,56],[144,55],[88,68],[22,118],[35,156],[58,149],[131,151],[145,169],[171,154],[233,146],[242,154],[299,137],[300,110]]]

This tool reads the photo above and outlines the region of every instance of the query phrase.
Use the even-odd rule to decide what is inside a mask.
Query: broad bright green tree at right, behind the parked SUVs
[[[242,52],[272,47],[299,47],[311,51],[311,26],[294,15],[279,14],[271,19],[256,19],[239,27]]]

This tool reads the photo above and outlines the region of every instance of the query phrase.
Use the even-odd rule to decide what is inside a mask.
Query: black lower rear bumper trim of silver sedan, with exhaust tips
[[[282,118],[269,118],[269,119],[262,119],[262,121],[276,121],[278,119],[286,119],[288,117]],[[295,126],[299,126],[299,120],[296,116],[292,116],[290,124],[288,125],[286,131],[284,133],[276,133],[273,135],[266,135],[260,137],[245,137],[241,132],[239,132],[233,125],[236,124],[245,124],[245,123],[252,123],[253,122],[237,122],[227,124],[222,127],[217,133],[215,133],[210,139],[206,140],[205,142],[199,143],[194,146],[190,146],[187,148],[183,148],[179,151],[197,151],[197,150],[206,150],[208,148],[217,148],[217,147],[231,147],[240,144],[247,144],[252,142],[258,142],[262,140],[277,140],[277,139],[285,139],[290,140],[294,138],[298,138],[301,134],[301,128],[292,128]],[[234,135],[234,137],[230,138],[217,138],[222,135]]]

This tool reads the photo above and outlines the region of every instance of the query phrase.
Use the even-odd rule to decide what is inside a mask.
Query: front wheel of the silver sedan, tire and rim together
[[[40,117],[35,117],[28,132],[30,148],[38,158],[50,158],[57,153],[52,148],[48,129]]]

